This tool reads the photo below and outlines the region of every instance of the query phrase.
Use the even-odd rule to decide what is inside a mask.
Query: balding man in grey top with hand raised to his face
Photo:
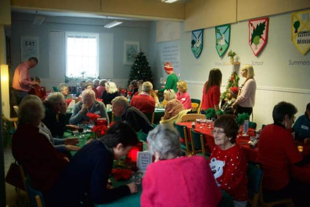
[[[83,91],[82,100],[74,106],[69,123],[73,125],[89,123],[89,117],[86,115],[88,112],[98,114],[101,118],[106,118],[109,123],[106,107],[102,102],[95,100],[95,93],[92,89]]]

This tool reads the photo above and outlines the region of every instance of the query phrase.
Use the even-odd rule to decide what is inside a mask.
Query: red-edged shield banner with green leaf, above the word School
[[[255,56],[262,51],[267,43],[268,22],[268,17],[248,21],[248,44]]]

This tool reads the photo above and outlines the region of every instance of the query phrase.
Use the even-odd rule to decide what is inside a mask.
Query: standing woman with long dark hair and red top
[[[221,96],[219,87],[221,82],[221,71],[218,68],[210,70],[209,79],[204,83],[202,91],[202,113],[209,108],[219,110],[219,98]]]

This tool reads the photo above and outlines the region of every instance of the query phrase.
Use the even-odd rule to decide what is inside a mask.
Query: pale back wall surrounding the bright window
[[[13,62],[10,71],[11,79],[14,69],[20,63],[20,36],[39,36],[39,64],[31,69],[31,77],[38,76],[42,78],[43,85],[47,86],[47,90],[51,89],[51,86],[57,86],[60,82],[64,81],[65,71],[60,71],[59,68],[50,68],[49,66],[49,62],[58,61],[56,58],[50,59],[50,31],[99,33],[100,78],[116,80],[118,81],[117,84],[121,87],[126,86],[131,67],[130,65],[123,64],[124,41],[139,41],[140,48],[148,57],[150,34],[150,22],[148,21],[124,21],[121,26],[106,29],[103,27],[106,20],[97,18],[46,16],[41,26],[33,25],[33,19],[33,15],[12,13],[12,27],[11,31],[8,32],[11,36]],[[103,37],[107,35],[109,37],[112,36],[112,43],[109,45],[112,48],[112,54],[107,54],[107,46],[103,45],[103,40],[107,40],[107,38]],[[64,45],[61,50],[64,50]],[[109,56],[108,58],[107,55]],[[112,65],[107,65],[107,61],[104,59],[107,59],[107,61],[112,60]],[[60,76],[55,73],[62,73],[63,78],[56,78]]]

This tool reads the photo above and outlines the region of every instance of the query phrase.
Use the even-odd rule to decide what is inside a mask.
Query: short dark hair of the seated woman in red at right
[[[297,113],[297,109],[293,104],[281,101],[273,108],[272,118],[275,124],[281,124],[285,118],[285,115],[292,118],[295,113]]]

